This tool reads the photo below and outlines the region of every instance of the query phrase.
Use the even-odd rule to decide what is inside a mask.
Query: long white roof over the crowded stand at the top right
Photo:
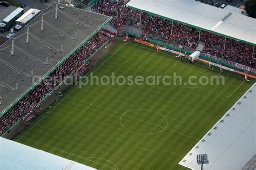
[[[194,0],[131,0],[127,6],[256,45],[256,19],[235,12],[228,15],[226,10]]]

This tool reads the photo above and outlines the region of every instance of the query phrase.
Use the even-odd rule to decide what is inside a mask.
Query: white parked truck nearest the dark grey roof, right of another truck
[[[35,18],[41,10],[30,9],[26,11],[21,17],[16,20],[15,31],[19,31],[23,26],[28,24],[33,18]]]

